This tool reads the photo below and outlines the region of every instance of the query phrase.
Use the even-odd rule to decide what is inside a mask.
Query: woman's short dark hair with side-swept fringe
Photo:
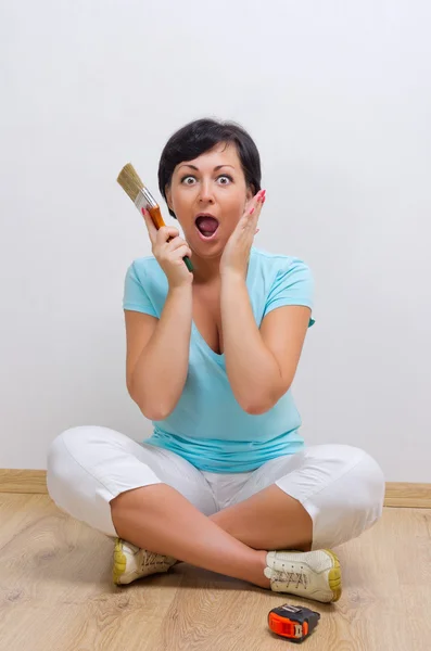
[[[163,149],[159,163],[159,189],[165,201],[175,167],[183,161],[197,158],[218,142],[234,143],[248,187],[253,187],[254,194],[261,190],[261,157],[251,136],[236,123],[203,118],[176,131]],[[169,215],[176,218],[170,208]]]

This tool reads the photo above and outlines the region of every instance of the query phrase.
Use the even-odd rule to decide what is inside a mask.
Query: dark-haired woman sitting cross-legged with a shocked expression
[[[365,451],[306,447],[290,386],[312,319],[307,266],[253,247],[261,164],[239,126],[193,122],[167,142],[160,190],[185,239],[156,230],[126,277],[127,387],[145,443],[105,427],[49,451],[56,505],[116,538],[114,582],[178,560],[318,601],[341,595],[333,546],[381,515]],[[194,270],[183,263],[189,256]]]

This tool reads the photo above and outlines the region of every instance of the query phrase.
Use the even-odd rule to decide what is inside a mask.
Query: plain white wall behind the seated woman
[[[115,179],[131,161],[159,196],[167,138],[214,115],[261,150],[256,245],[317,280],[295,383],[307,442],[431,482],[427,0],[0,11],[0,467],[46,468],[72,425],[150,433],[125,387],[122,309],[150,246]]]

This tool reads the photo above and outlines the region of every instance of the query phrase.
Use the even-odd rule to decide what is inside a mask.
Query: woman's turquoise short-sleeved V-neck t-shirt
[[[294,257],[252,247],[246,288],[258,327],[267,314],[283,305],[313,309],[310,271]],[[123,307],[160,318],[167,291],[157,260],[153,256],[138,258],[126,275]],[[309,326],[313,323],[310,319]],[[266,413],[246,413],[230,387],[225,355],[214,353],[194,322],[181,397],[170,416],[153,425],[147,444],[172,450],[208,472],[248,472],[304,446],[291,390]]]

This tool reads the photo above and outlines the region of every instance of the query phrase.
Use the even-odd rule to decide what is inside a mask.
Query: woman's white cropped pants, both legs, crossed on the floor
[[[212,515],[276,484],[309,513],[313,549],[359,536],[380,518],[384,497],[384,477],[377,462],[347,445],[305,447],[252,472],[218,474],[202,472],[168,450],[92,425],[66,430],[53,441],[47,483],[60,509],[113,537],[110,502],[125,490],[168,484]]]

